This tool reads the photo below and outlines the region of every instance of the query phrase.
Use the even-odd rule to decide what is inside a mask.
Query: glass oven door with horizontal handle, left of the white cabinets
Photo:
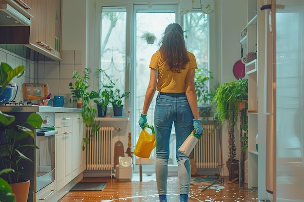
[[[36,190],[55,180],[55,135],[58,133],[54,127],[36,130]]]

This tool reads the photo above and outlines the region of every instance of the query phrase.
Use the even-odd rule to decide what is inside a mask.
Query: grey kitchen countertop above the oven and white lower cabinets
[[[83,109],[78,108],[60,108],[38,105],[16,105],[16,106],[0,106],[1,112],[61,112],[61,113],[81,113]]]

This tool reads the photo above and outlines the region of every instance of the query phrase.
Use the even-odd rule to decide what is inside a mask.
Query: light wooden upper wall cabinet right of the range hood
[[[61,0],[32,0],[32,7],[31,43],[60,58]]]

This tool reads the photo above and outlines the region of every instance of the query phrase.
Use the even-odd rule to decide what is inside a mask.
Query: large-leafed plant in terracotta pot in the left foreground
[[[20,65],[13,69],[7,63],[1,62],[0,64],[0,84],[5,89],[8,82],[14,77],[21,77],[24,72],[24,66]],[[26,124],[30,124],[36,128],[40,128],[42,124],[42,118],[37,113],[31,113],[26,121],[21,124],[14,124],[16,120],[15,116],[2,113],[0,111],[0,198],[4,201],[16,201],[14,196],[16,194],[17,199],[24,199],[27,201],[29,193],[30,181],[20,179],[23,175],[23,168],[20,166],[20,162],[32,161],[26,156],[26,152],[29,147],[38,148],[34,144],[24,144],[24,140],[27,138],[34,139],[34,132],[26,127]],[[9,186],[7,186],[9,184]],[[16,186],[25,186],[26,188],[16,188]],[[12,188],[13,187],[13,188]],[[24,190],[25,193],[20,197],[17,192]],[[12,192],[14,194],[12,194]]]

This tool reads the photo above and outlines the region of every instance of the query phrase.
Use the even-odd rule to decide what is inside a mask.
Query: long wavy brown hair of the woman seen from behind
[[[182,27],[177,23],[169,24],[159,48],[163,60],[169,65],[171,72],[181,73],[190,61],[185,45]]]

